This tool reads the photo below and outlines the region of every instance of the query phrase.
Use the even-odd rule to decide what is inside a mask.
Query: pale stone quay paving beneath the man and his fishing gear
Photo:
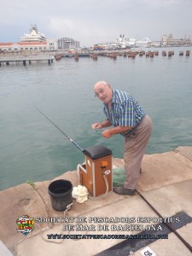
[[[115,167],[124,166],[123,160],[113,159]],[[24,183],[14,188],[0,192],[0,252],[12,252],[20,256],[47,256],[47,255],[191,255],[189,247],[192,246],[192,148],[179,147],[174,151],[162,154],[145,154],[142,170],[137,184],[139,194],[117,195],[113,192],[106,197],[96,200],[88,200],[83,204],[73,200],[73,206],[66,212],[56,212],[51,207],[48,194],[48,186],[52,181],[38,182],[34,184]],[[77,172],[66,172],[55,179],[67,179],[73,186],[79,184]],[[149,230],[149,234],[168,235],[168,239],[48,239],[50,235],[73,234],[85,236],[92,235],[141,235],[140,226],[150,227],[160,224],[154,210],[148,206],[141,195],[154,207],[163,218],[169,218],[173,229],[186,241],[183,243],[172,230],[161,224],[162,230]],[[80,231],[63,230],[63,224],[35,223],[31,234],[23,236],[17,232],[16,219],[22,215],[31,218],[49,218],[64,216],[79,218],[82,223]],[[94,222],[97,218],[135,218],[135,222],[112,224]],[[154,219],[146,222],[148,218]],[[85,220],[92,221],[86,223]],[[140,221],[138,220],[140,219]],[[177,221],[176,221],[177,219]],[[143,220],[143,221],[142,221]],[[80,221],[79,221],[80,222]],[[69,224],[68,224],[68,229]],[[87,224],[87,225],[86,225]],[[92,224],[92,230],[91,230]],[[133,230],[122,230],[121,226],[132,225]],[[71,226],[77,226],[77,222],[71,222]],[[100,225],[100,230],[98,230]],[[84,228],[83,228],[84,226]],[[94,226],[96,230],[94,230]],[[116,226],[116,227],[115,227]],[[66,225],[65,225],[66,227]],[[119,229],[121,227],[121,230]],[[90,230],[88,230],[88,228]],[[115,230],[116,228],[116,230]],[[119,229],[119,230],[118,230]],[[158,233],[159,232],[159,233]],[[48,236],[49,235],[49,236]],[[113,238],[113,236],[112,236]],[[6,246],[6,247],[4,247]],[[8,251],[9,249],[9,251]],[[142,252],[154,254],[142,254]],[[1,255],[9,255],[3,254]]]

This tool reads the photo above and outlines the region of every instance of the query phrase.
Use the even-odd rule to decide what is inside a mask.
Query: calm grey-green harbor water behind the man
[[[192,56],[189,47],[159,50],[154,58],[98,56],[0,67],[0,189],[49,180],[76,170],[84,154],[50,124],[40,109],[81,148],[102,144],[122,158],[124,139],[105,139],[91,124],[105,119],[93,85],[105,80],[128,91],[153,120],[146,154],[192,146]],[[174,50],[172,57],[162,50]],[[191,51],[191,50],[190,50]]]

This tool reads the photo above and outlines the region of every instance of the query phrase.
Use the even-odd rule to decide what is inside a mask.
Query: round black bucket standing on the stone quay
[[[49,184],[49,195],[52,207],[56,211],[65,211],[73,201],[73,185],[66,179],[58,179]]]

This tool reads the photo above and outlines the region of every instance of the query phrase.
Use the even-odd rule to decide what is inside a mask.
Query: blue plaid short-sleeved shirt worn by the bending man
[[[113,126],[133,126],[129,131],[121,133],[128,135],[143,119],[143,108],[127,92],[113,90],[112,105],[108,110],[108,104],[104,103],[103,111]]]

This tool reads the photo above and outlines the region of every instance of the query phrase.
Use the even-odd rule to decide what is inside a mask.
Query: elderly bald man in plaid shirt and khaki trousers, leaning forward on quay
[[[151,135],[151,119],[132,96],[125,91],[112,89],[104,81],[95,84],[94,92],[103,102],[107,119],[92,124],[92,128],[102,129],[113,125],[102,131],[102,136],[109,138],[120,134],[125,137],[125,183],[124,186],[113,188],[113,191],[119,195],[134,195],[143,154]]]

